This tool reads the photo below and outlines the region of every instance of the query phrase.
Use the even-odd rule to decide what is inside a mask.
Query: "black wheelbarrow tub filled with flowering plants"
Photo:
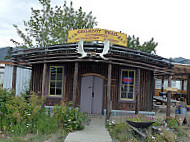
[[[135,128],[148,128],[155,122],[155,119],[144,114],[131,114],[126,122]]]

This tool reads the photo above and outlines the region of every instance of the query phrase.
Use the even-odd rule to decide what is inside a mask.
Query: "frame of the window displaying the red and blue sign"
[[[121,88],[122,88],[122,73],[123,71],[133,71],[134,72],[134,81],[133,81],[133,99],[129,99],[129,98],[121,98]],[[121,68],[120,72],[119,72],[119,94],[118,94],[118,98],[119,98],[119,102],[129,102],[129,103],[135,103],[136,101],[136,85],[137,85],[137,70],[134,68]]]

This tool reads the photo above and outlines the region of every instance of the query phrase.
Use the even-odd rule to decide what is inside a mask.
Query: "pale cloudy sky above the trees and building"
[[[190,0],[73,0],[75,10],[80,6],[97,18],[95,28],[135,35],[141,43],[153,37],[157,55],[190,59]],[[40,8],[38,0],[0,0],[0,47],[14,47],[10,39],[22,41],[13,24],[24,30],[31,7]]]

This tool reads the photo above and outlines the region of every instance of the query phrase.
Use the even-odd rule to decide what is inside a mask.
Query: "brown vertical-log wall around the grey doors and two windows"
[[[47,68],[49,69],[49,65]],[[52,64],[55,65],[55,64]],[[59,104],[60,101],[69,102],[72,101],[73,91],[73,75],[74,75],[74,63],[59,63],[56,65],[63,65],[65,68],[64,77],[64,97],[62,98],[49,98],[47,97],[46,103],[49,105]],[[111,80],[111,101],[113,110],[135,110],[135,102],[120,102],[119,101],[119,78],[120,69],[122,67],[118,65],[112,65],[112,80]],[[127,67],[123,67],[127,68]],[[42,72],[43,64],[33,65],[32,69],[32,83],[31,90],[35,92],[41,92],[42,88]],[[79,63],[79,78],[77,84],[77,97],[76,103],[80,105],[80,88],[81,78],[85,75],[98,75],[104,78],[104,109],[106,108],[106,89],[107,89],[107,74],[108,64],[95,63],[95,62],[80,62]],[[46,74],[46,93],[48,93],[48,77],[49,71]],[[153,72],[142,70],[140,72],[140,110],[152,109],[152,97],[154,94],[154,79]]]

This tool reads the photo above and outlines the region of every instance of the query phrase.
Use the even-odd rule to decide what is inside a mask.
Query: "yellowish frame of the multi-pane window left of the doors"
[[[61,95],[50,95],[50,84],[51,84],[51,67],[61,67],[62,68],[62,87],[61,87]],[[47,93],[47,97],[48,98],[62,98],[64,97],[64,78],[65,78],[65,66],[64,65],[49,65],[48,66],[48,93]],[[57,72],[56,72],[56,76],[57,76]],[[57,83],[57,80],[55,80],[55,84]],[[55,87],[55,91],[56,91],[56,87]]]

